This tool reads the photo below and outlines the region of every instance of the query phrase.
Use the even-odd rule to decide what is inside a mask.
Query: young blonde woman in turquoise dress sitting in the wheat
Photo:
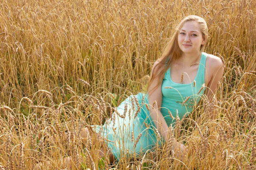
[[[203,94],[212,98],[223,67],[220,58],[203,52],[207,34],[207,23],[201,17],[190,15],[179,23],[162,57],[153,65],[148,93],[130,96],[116,108],[110,122],[94,125],[90,138],[101,136],[108,146],[108,150],[102,148],[102,155],[107,153],[110,161],[143,155],[156,144],[168,141],[169,126],[175,125],[169,112],[182,119]],[[81,136],[88,135],[86,127]],[[175,148],[176,156],[185,154],[186,147],[176,140],[172,143]]]

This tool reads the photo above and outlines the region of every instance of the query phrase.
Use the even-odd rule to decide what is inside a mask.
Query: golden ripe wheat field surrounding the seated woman
[[[67,156],[72,169],[256,169],[255,13],[254,0],[0,0],[0,169],[65,169]],[[198,105],[173,131],[191,154],[179,161],[163,145],[100,160],[74,132],[145,92],[189,14],[207,21],[205,51],[225,66],[218,104]]]

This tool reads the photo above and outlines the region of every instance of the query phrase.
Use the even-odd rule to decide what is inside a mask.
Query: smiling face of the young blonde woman
[[[178,34],[180,50],[185,54],[194,54],[200,51],[204,43],[199,24],[196,21],[187,21]]]

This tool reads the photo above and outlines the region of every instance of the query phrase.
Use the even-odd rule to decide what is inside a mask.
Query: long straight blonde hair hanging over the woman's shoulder
[[[160,81],[163,78],[165,72],[168,70],[171,63],[181,56],[182,51],[180,50],[178,45],[178,34],[183,25],[188,21],[196,21],[199,24],[202,37],[205,40],[205,42],[207,42],[208,28],[206,21],[203,18],[198,17],[196,15],[189,15],[183,18],[183,20],[181,20],[180,23],[177,25],[175,33],[173,34],[171,40],[167,43],[162,56],[159,59],[157,59],[157,65],[152,70],[152,75],[149,80],[148,87],[150,87],[151,83],[155,78],[158,78],[158,81],[157,85],[154,88],[152,88],[151,91],[154,91],[155,88],[157,88],[157,86],[160,85]],[[205,45],[206,43],[201,45],[200,52],[204,51]],[[150,94],[151,91],[148,91],[148,94]]]

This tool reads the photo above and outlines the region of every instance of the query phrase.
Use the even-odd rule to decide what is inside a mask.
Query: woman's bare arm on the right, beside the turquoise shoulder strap
[[[208,54],[207,56],[207,62],[206,62],[206,74],[207,74],[207,89],[206,89],[206,95],[209,100],[209,102],[212,101],[215,91],[217,89],[218,82],[221,80],[221,77],[224,72],[224,67],[221,59],[219,57],[216,57],[214,55]],[[217,102],[217,100],[215,100]],[[216,118],[216,114],[213,113],[211,116],[212,119]]]

